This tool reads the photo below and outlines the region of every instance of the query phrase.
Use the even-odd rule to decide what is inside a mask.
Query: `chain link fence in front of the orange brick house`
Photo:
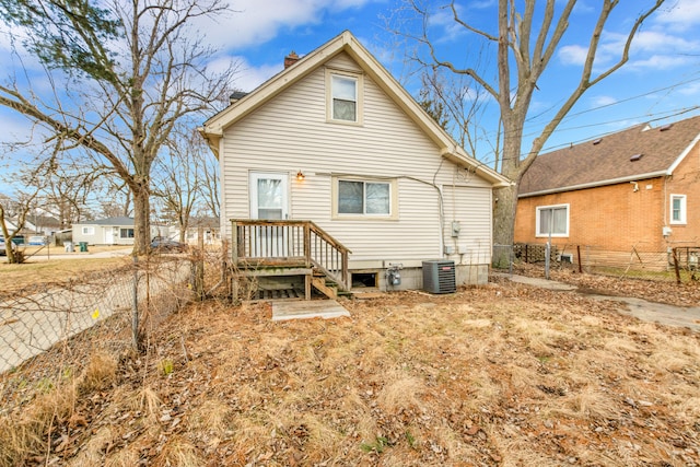
[[[688,283],[700,280],[700,246],[678,246],[666,252],[644,245],[615,250],[595,245],[551,245],[528,243],[494,245],[493,267],[513,273],[518,265],[550,270],[570,269],[592,275],[640,278],[646,280]],[[500,262],[497,262],[500,261]]]

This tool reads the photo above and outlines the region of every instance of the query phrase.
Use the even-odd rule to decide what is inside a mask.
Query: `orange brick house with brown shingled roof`
[[[516,243],[575,246],[598,260],[700,246],[700,116],[638,125],[542,154],[524,175]],[[697,258],[697,257],[696,257]],[[575,260],[575,258],[572,258]]]

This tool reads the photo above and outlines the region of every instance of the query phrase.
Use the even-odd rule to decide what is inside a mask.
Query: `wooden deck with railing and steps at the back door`
[[[312,221],[238,219],[232,220],[232,260],[241,277],[303,276],[305,300],[311,300],[312,288],[329,299],[350,292],[350,249]],[[234,279],[233,290],[237,295],[236,285]],[[260,290],[255,295],[264,300],[262,296],[276,293]],[[284,293],[277,295],[281,299]]]

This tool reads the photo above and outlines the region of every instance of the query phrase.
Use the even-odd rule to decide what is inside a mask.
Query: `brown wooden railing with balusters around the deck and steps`
[[[314,267],[341,289],[350,289],[350,248],[312,221],[232,219],[234,265],[299,265]]]

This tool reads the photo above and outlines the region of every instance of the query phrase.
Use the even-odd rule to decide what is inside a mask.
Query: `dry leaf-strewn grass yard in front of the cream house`
[[[0,463],[700,465],[697,332],[504,279],[341,303],[351,318],[272,323],[269,305],[210,301],[147,354],[96,346],[70,384],[2,415]],[[3,384],[18,378],[38,385]]]

